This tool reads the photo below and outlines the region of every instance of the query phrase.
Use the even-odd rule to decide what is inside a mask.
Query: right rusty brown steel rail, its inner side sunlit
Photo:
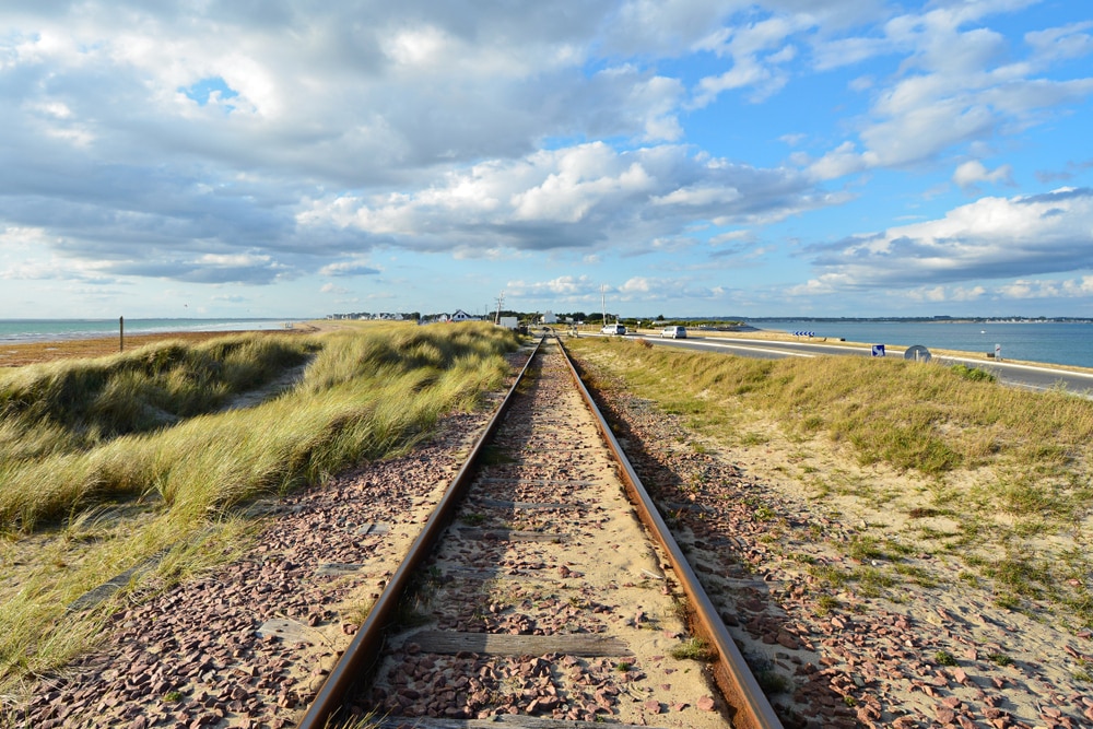
[[[672,571],[675,573],[680,586],[690,600],[691,609],[694,611],[692,631],[697,633],[700,637],[704,638],[717,651],[718,659],[714,665],[714,679],[725,695],[726,701],[736,712],[731,717],[732,726],[740,729],[783,729],[781,721],[774,713],[774,708],[767,701],[763,690],[760,689],[759,682],[755,681],[751,669],[748,668],[743,655],[737,648],[737,644],[733,643],[728,628],[725,627],[725,622],[717,614],[717,609],[691,568],[691,564],[686,561],[683,550],[680,549],[675,538],[672,537],[671,530],[657,510],[653,498],[649,496],[649,492],[646,491],[642,480],[637,477],[633,466],[630,463],[630,459],[626,458],[626,454],[611,432],[611,427],[600,412],[599,407],[589,393],[588,388],[585,387],[584,380],[580,379],[580,375],[574,366],[569,353],[566,352],[565,346],[562,344],[562,340],[559,339],[557,343],[565,355],[566,363],[569,365],[569,373],[573,375],[573,379],[580,390],[580,396],[595,414],[597,427],[621,467],[619,475],[626,486],[634,507],[637,509],[638,517],[645,524],[646,528],[653,532],[654,538],[660,543],[661,548],[663,548]]]

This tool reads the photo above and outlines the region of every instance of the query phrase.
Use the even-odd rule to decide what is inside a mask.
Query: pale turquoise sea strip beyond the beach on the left
[[[126,319],[126,334],[172,331],[256,331],[282,329],[287,319]],[[0,342],[114,337],[117,319],[0,319]]]

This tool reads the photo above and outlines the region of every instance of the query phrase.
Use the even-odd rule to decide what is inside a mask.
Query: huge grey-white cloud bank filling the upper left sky
[[[679,80],[625,63],[586,73],[614,3],[566,4],[474,17],[412,2],[5,5],[0,145],[19,174],[0,179],[0,221],[48,228],[70,258],[129,260],[116,268],[134,275],[177,267],[195,280],[207,263],[210,280],[238,278],[202,256],[257,248],[280,274],[302,273],[403,227],[376,219],[372,236],[301,239],[297,214],[326,190],[409,189],[421,202],[446,175],[552,136],[679,139]],[[579,220],[560,196],[612,195],[559,174],[521,190],[510,222]],[[251,267],[251,282],[277,279]]]

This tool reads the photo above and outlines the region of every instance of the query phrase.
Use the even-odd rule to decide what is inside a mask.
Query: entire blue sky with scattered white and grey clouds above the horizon
[[[0,4],[0,319],[502,299],[1093,317],[1093,4]]]

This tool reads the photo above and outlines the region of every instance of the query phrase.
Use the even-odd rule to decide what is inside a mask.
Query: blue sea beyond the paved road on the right
[[[756,329],[812,331],[820,339],[866,344],[994,352],[1001,345],[1003,360],[1029,360],[1051,364],[1093,367],[1093,324],[1021,322],[956,324],[928,321],[779,321],[749,322]]]

